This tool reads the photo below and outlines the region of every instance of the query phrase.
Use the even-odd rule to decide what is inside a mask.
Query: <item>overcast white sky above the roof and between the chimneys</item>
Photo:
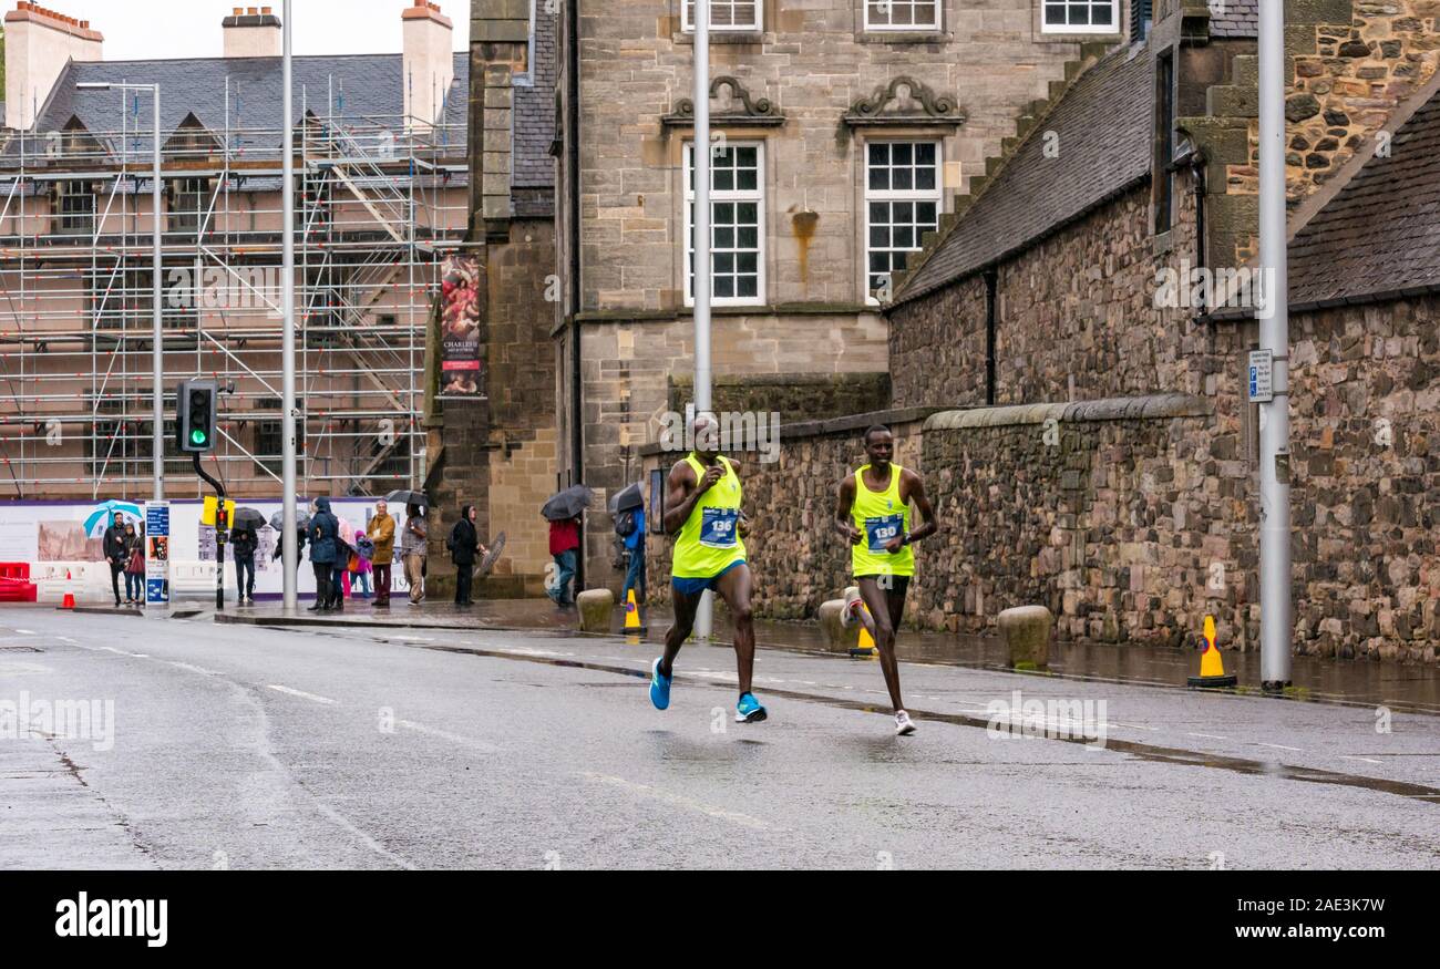
[[[469,45],[469,0],[439,0],[455,24],[455,49]],[[13,9],[13,3],[6,3]],[[107,60],[148,58],[217,58],[220,20],[236,6],[271,6],[279,0],[45,0],[42,6],[105,35]],[[399,53],[400,12],[412,0],[294,0],[295,53]]]

